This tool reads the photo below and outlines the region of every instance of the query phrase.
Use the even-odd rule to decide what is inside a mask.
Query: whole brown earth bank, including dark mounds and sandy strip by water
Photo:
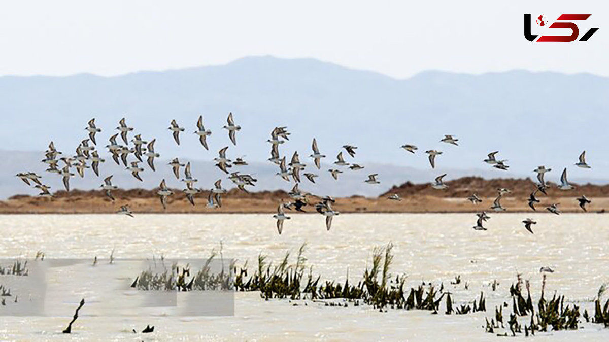
[[[497,195],[498,188],[510,189],[512,192],[504,195],[502,206],[507,212],[532,211],[527,205],[529,194],[535,189],[535,183],[526,179],[493,179],[484,180],[479,177],[463,177],[446,182],[448,189],[435,190],[430,184],[404,183],[394,186],[385,194],[376,198],[352,196],[336,198],[334,209],[340,212],[477,212],[489,211]],[[555,189],[554,184],[547,190],[547,196],[538,193],[541,201],[536,205],[537,211],[545,212],[546,206],[560,203],[563,212],[583,212],[576,198],[580,195],[592,200],[588,204],[588,212],[604,212],[609,208],[609,185],[584,184],[575,190],[562,191]],[[156,195],[157,189],[113,190],[116,201],[105,197],[100,190],[71,190],[58,191],[54,198],[30,197],[15,195],[9,200],[0,201],[0,214],[85,214],[113,213],[121,205],[128,204],[133,212],[148,213],[272,213],[278,203],[290,201],[289,195],[283,190],[245,193],[232,189],[222,196],[222,207],[206,208],[208,192],[203,191],[195,196],[195,206],[192,206],[183,192],[174,189],[175,194],[169,197],[167,209],[163,209]],[[471,204],[466,197],[476,193],[483,202]],[[388,200],[391,194],[398,194],[401,201]],[[312,204],[319,198],[309,196],[311,205],[304,209],[315,212]]]

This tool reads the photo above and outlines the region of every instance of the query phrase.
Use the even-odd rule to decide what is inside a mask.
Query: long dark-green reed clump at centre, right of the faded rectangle
[[[306,244],[298,250],[296,263],[290,265],[290,253],[273,266],[267,262],[267,256],[259,254],[258,267],[253,274],[247,268],[247,262],[239,270],[235,269],[235,289],[237,291],[260,291],[261,298],[269,299],[311,299],[312,301],[323,301],[327,299],[343,299],[354,305],[371,305],[375,309],[405,309],[405,310],[428,310],[438,313],[442,299],[446,296],[446,313],[456,312],[466,314],[480,310],[486,310],[484,294],[478,301],[473,301],[473,309],[468,305],[452,308],[453,301],[449,293],[443,293],[443,285],[440,290],[434,285],[424,283],[417,288],[406,290],[404,284],[406,276],[395,276],[390,274],[390,266],[393,262],[393,244],[377,247],[373,250],[370,267],[364,271],[362,279],[357,284],[351,284],[347,271],[345,282],[320,281],[321,276],[313,276],[312,267],[306,274],[303,257]],[[328,306],[336,306],[334,302],[326,302]]]

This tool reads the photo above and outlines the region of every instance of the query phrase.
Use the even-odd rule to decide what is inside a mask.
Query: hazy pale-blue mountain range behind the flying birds
[[[222,129],[229,111],[242,127],[236,147]],[[290,141],[281,145],[281,154],[289,159],[298,150],[309,167],[312,160],[307,156],[314,137],[328,156],[327,164],[334,161],[342,145],[359,147],[354,162],[366,169],[345,172],[339,182],[329,178],[327,166],[315,170],[323,174],[322,190],[334,195],[378,195],[393,184],[431,181],[444,172],[449,173],[447,179],[533,176],[531,171],[541,164],[554,169],[547,175],[551,180],[568,167],[574,181],[604,183],[609,179],[603,141],[608,112],[609,79],[590,74],[429,71],[397,80],[312,59],[248,57],[222,66],[116,77],[5,76],[0,77],[0,144],[4,150],[0,156],[5,161],[0,197],[25,192],[14,175],[29,169],[40,172],[43,166],[37,161],[49,141],[65,153],[74,153],[86,138],[86,122],[96,117],[103,130],[97,138],[103,150],[123,116],[135,127],[133,133],[141,133],[147,140],[157,138],[155,147],[164,163],[174,156],[200,162],[193,165],[193,171],[198,170],[200,180],[212,183],[222,173],[209,161],[217,150],[230,146],[229,158],[245,155],[252,163],[250,172],[258,173],[261,189],[289,187],[273,177],[276,168],[266,162],[270,151],[266,139],[278,125],[286,125],[292,132]],[[209,152],[192,134],[199,114],[213,131]],[[171,119],[186,127],[180,147],[167,130]],[[456,135],[460,146],[439,142],[443,134]],[[417,155],[399,148],[406,143],[418,145]],[[437,158],[436,170],[429,168],[423,153],[430,148],[444,152]],[[499,158],[509,159],[509,173],[481,162],[493,150],[501,151]],[[593,169],[573,166],[582,150],[587,150]],[[347,157],[347,161],[353,159]],[[104,166],[110,163],[108,160]],[[145,172],[144,185],[157,186],[161,176],[172,177],[169,169],[161,169],[155,175]],[[108,172],[120,172],[125,187],[141,185],[126,170],[104,170],[102,166],[102,174]],[[382,183],[378,189],[363,183],[367,173],[379,173]],[[122,181],[118,175],[116,178]],[[83,188],[98,183],[101,180],[74,180],[75,186]]]

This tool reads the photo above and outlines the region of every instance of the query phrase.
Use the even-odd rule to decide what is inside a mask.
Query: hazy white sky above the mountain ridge
[[[428,69],[609,75],[607,1],[0,1],[0,75],[114,75],[250,55],[398,78]],[[587,42],[531,43],[524,13],[591,13],[580,35],[600,29]]]

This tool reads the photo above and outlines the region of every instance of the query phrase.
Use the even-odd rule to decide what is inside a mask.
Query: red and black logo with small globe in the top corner
[[[550,26],[548,26],[548,28],[549,29],[570,29],[571,35],[567,35],[567,36],[543,35],[543,36],[537,38],[538,35],[533,35],[531,33],[531,15],[525,14],[524,15],[524,38],[527,38],[527,40],[529,40],[529,41],[536,41],[535,38],[537,38],[537,41],[574,41],[577,39],[577,37],[579,37],[579,27],[577,27],[577,24],[572,23],[571,21],[583,21],[583,20],[590,18],[590,16],[591,16],[590,14],[561,14],[556,19],[556,22],[552,23]],[[542,14],[535,19],[535,23],[537,23],[538,26],[547,26],[548,21],[546,20],[546,16],[544,16]],[[593,27],[593,28],[589,29],[586,33],[583,34],[582,38],[580,38],[579,41],[588,40],[590,37],[592,37],[594,32],[596,32],[598,29],[599,29],[598,27]]]

